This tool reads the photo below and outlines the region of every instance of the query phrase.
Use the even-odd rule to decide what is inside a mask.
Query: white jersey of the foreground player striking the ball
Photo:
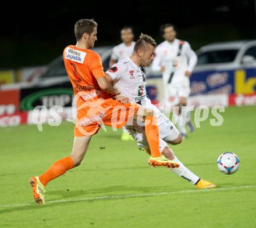
[[[120,91],[121,95],[129,97],[131,102],[139,103],[154,110],[158,118],[158,125],[168,120],[147,97],[145,68],[143,66],[137,66],[130,57],[127,57],[114,64],[106,71],[106,74],[113,81],[118,80],[115,87]]]

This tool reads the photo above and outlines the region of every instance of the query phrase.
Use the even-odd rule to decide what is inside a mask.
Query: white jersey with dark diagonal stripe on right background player
[[[164,41],[155,50],[156,57],[152,64],[152,70],[160,71],[161,66],[165,67],[163,72],[163,83],[167,84],[188,84],[189,78],[186,71],[193,71],[197,63],[197,56],[186,41],[175,39],[172,43]]]

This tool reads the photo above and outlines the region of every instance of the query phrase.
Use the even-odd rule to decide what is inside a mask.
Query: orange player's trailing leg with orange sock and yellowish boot
[[[52,166],[42,175],[33,176],[29,183],[33,191],[33,198],[38,204],[44,204],[45,201],[45,186],[51,180],[61,176],[63,173],[80,165],[86,154],[91,136],[74,137],[73,150],[70,156],[62,158],[52,164]]]

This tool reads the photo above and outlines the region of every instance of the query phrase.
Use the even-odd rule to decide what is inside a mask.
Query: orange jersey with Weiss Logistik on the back
[[[101,57],[98,53],[69,45],[63,51],[63,59],[74,95],[77,95],[78,98],[77,107],[88,100],[111,98],[102,91],[97,82],[97,78],[105,77]]]

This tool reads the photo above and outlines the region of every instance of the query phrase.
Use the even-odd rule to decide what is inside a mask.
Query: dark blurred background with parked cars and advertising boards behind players
[[[159,44],[163,41],[159,26],[173,23],[177,38],[188,41],[199,57],[191,77],[190,104],[256,104],[255,2],[9,3],[0,14],[0,126],[28,122],[26,112],[37,105],[47,108],[71,105],[73,92],[61,55],[67,45],[76,43],[74,23],[83,18],[94,18],[98,23],[95,48],[105,68],[112,47],[121,42],[123,26],[133,26],[135,39],[143,32]],[[212,45],[216,42],[219,44]],[[214,62],[201,61],[200,64],[200,55],[219,50],[224,51],[225,57],[218,59],[217,55]],[[229,50],[232,50],[231,56]],[[161,102],[161,82],[161,74],[148,71],[148,93],[156,103]],[[10,116],[17,113],[22,117],[10,121]],[[63,114],[63,118],[67,115]]]

